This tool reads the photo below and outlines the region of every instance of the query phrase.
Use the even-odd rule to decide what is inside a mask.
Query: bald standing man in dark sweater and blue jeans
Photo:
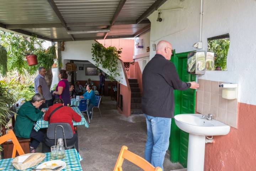
[[[145,66],[142,74],[142,111],[148,134],[145,159],[162,169],[169,146],[171,118],[174,117],[174,90],[199,87],[194,81],[180,80],[174,64],[170,62],[171,55],[171,43],[160,41],[156,45],[156,55]]]

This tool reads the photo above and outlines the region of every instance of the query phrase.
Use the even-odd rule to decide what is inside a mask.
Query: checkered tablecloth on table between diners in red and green
[[[81,116],[81,121],[80,122],[75,122],[75,121],[72,121],[73,122],[73,125],[74,126],[77,126],[77,125],[85,125],[86,128],[89,128],[89,125],[88,123],[86,122],[84,116],[82,115],[82,113],[80,112],[79,108],[78,107],[71,107],[76,113],[78,113],[80,116]],[[47,109],[47,108],[46,108]],[[49,122],[48,121],[44,121],[43,120],[43,116],[38,119],[38,121],[36,122],[36,125],[34,126],[34,130],[38,131],[39,129],[41,128],[48,128],[48,125],[49,125]]]

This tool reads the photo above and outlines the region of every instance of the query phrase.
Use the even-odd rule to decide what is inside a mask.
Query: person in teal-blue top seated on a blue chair
[[[89,105],[87,107],[87,111],[88,111],[89,117],[91,117],[92,108],[96,106],[96,97],[95,97],[94,91],[92,90],[91,85],[87,85],[86,90],[87,91],[82,96],[80,96],[80,98],[89,99]]]

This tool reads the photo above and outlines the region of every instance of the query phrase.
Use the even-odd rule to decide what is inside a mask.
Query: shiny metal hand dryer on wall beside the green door
[[[187,60],[187,72],[189,74],[200,74],[205,73],[206,66],[206,55],[205,52],[190,52],[188,53]]]

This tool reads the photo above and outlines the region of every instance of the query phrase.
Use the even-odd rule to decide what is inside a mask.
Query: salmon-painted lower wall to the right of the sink
[[[256,170],[256,106],[238,103],[238,129],[206,144],[204,171]]]

